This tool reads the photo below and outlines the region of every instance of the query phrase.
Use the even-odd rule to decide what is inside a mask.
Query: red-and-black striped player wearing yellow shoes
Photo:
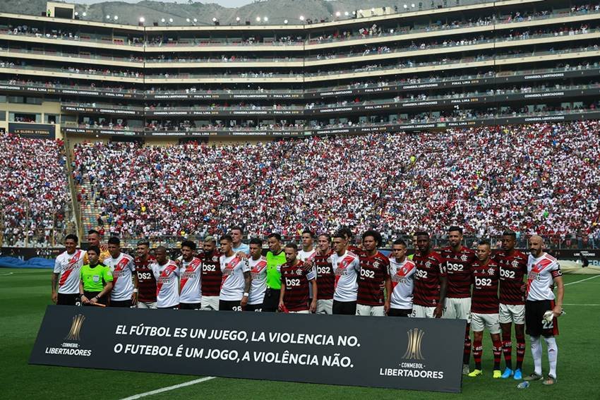
[[[491,260],[491,248],[488,241],[480,241],[477,246],[477,261],[472,266],[473,295],[471,303],[471,327],[473,329],[473,358],[475,369],[469,377],[481,375],[481,354],[484,329],[490,332],[493,346],[493,377],[499,378],[502,342],[500,341],[500,322],[498,322],[498,284],[500,267]]]

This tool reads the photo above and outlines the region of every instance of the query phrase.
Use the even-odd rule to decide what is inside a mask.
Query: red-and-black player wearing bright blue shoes
[[[522,366],[525,357],[525,290],[524,276],[527,274],[527,255],[515,249],[517,234],[505,231],[502,235],[502,250],[494,260],[500,265],[500,328],[502,329],[502,350],[506,368],[503,378],[513,376],[522,379]],[[510,327],[515,323],[517,339],[517,365],[512,370],[512,341]]]

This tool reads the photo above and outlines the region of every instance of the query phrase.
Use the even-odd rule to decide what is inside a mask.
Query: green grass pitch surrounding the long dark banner
[[[150,374],[28,365],[37,329],[50,303],[49,270],[0,268],[0,399],[124,399],[155,389],[198,380],[198,376]],[[485,334],[484,377],[464,377],[462,394],[411,392],[395,389],[340,387],[215,378],[143,399],[600,399],[597,383],[600,342],[599,279],[566,275],[565,311],[558,337],[558,382],[544,387],[534,382],[516,389],[515,380],[491,377],[491,341]],[[586,280],[583,280],[586,279]],[[382,349],[382,351],[385,351]],[[513,349],[514,351],[514,349]],[[544,355],[546,350],[544,348]],[[513,354],[513,362],[515,355]],[[504,361],[502,361],[503,365]],[[544,357],[544,372],[547,372]],[[595,366],[594,366],[595,365]],[[590,372],[592,371],[592,372]],[[532,372],[527,345],[524,374]],[[94,394],[94,395],[92,395]],[[551,397],[549,397],[551,396]],[[134,397],[137,398],[137,397]]]

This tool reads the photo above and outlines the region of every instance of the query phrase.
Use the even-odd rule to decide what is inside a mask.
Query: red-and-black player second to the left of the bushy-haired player
[[[317,314],[332,314],[333,293],[335,292],[335,272],[331,265],[331,236],[320,234],[317,238],[317,251],[313,265],[317,274]]]

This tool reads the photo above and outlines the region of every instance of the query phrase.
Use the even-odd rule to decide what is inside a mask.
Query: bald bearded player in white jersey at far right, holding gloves
[[[544,337],[548,348],[550,371],[544,384],[556,382],[556,362],[558,359],[557,317],[563,312],[563,277],[556,258],[544,253],[544,239],[540,236],[529,238],[529,260],[527,260],[527,301],[525,302],[525,327],[531,339],[534,372],[524,380],[544,380],[541,373],[541,341]],[[551,286],[556,285],[556,302]]]

